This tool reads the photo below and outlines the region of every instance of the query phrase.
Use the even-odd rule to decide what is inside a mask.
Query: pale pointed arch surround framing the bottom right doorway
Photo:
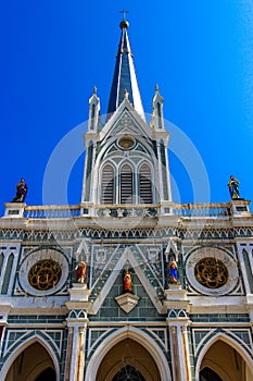
[[[211,340],[208,340],[204,347],[200,351],[197,365],[195,365],[195,381],[199,381],[200,370],[202,361],[204,360],[204,356],[207,354],[208,349],[212,347],[213,344],[216,342],[222,341],[232,347],[237,351],[237,353],[242,357],[242,359],[245,361],[245,365],[249,367],[251,373],[253,374],[253,361],[250,357],[249,353],[245,351],[245,348],[241,345],[239,345],[233,339],[229,337],[228,335],[224,333],[217,333],[215,336],[213,336]],[[213,368],[215,371],[219,370],[217,367],[213,366],[211,364],[206,364],[211,368]],[[226,379],[225,379],[226,381]]]

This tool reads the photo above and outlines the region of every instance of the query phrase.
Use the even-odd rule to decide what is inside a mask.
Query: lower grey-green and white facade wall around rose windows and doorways
[[[199,380],[202,365],[212,362],[208,356],[215,343],[235,349],[246,371],[252,371],[251,217],[246,226],[242,217],[242,222],[238,225],[237,219],[237,226],[231,228],[235,220],[230,217],[215,221],[228,228],[205,223],[201,231],[189,226],[188,220],[182,220],[185,225],[179,229],[169,226],[169,219],[164,228],[136,226],[127,238],[124,229],[109,234],[101,228],[78,228],[75,232],[62,228],[47,234],[30,230],[28,236],[27,231],[17,229],[23,219],[15,220],[15,229],[1,230],[2,285],[5,282],[0,305],[1,374],[7,376],[17,355],[37,341],[52,358],[58,380],[94,380],[90,367],[99,370],[113,345],[128,336],[138,342],[138,335],[148,351],[153,343],[151,356],[161,358],[159,369],[166,362],[167,377],[175,381]],[[61,223],[66,226],[66,221]],[[10,256],[13,260],[8,266]],[[178,263],[178,285],[169,283],[172,256]],[[26,282],[20,278],[27,276],[36,262],[34,257],[51,258],[65,268],[60,287],[46,293],[24,288]],[[207,288],[193,280],[194,265],[205,257],[223,261],[228,269],[229,279],[220,288]],[[87,288],[77,290],[75,296],[75,268],[81,259],[88,265]],[[115,300],[124,292],[126,266],[134,273],[132,293],[140,297],[128,314]],[[77,369],[75,378],[73,367]],[[218,366],[216,370],[222,371]]]

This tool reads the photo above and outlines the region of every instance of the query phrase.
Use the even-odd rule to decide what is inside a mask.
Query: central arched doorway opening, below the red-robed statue
[[[137,341],[125,339],[104,356],[96,381],[160,381],[157,366]]]

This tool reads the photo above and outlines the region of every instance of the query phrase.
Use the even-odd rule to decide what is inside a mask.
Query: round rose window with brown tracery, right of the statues
[[[224,262],[216,258],[203,258],[194,267],[197,281],[207,288],[219,288],[228,280],[228,270]]]

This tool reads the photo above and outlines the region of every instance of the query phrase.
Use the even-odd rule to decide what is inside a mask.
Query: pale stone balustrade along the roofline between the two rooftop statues
[[[27,219],[69,219],[77,217],[92,218],[156,218],[174,216],[182,219],[229,219],[231,216],[251,216],[250,201],[238,202],[203,202],[203,204],[174,204],[163,205],[48,205],[27,206],[25,204],[5,204],[4,218]],[[235,204],[235,205],[233,205]],[[243,204],[243,205],[242,205]]]

